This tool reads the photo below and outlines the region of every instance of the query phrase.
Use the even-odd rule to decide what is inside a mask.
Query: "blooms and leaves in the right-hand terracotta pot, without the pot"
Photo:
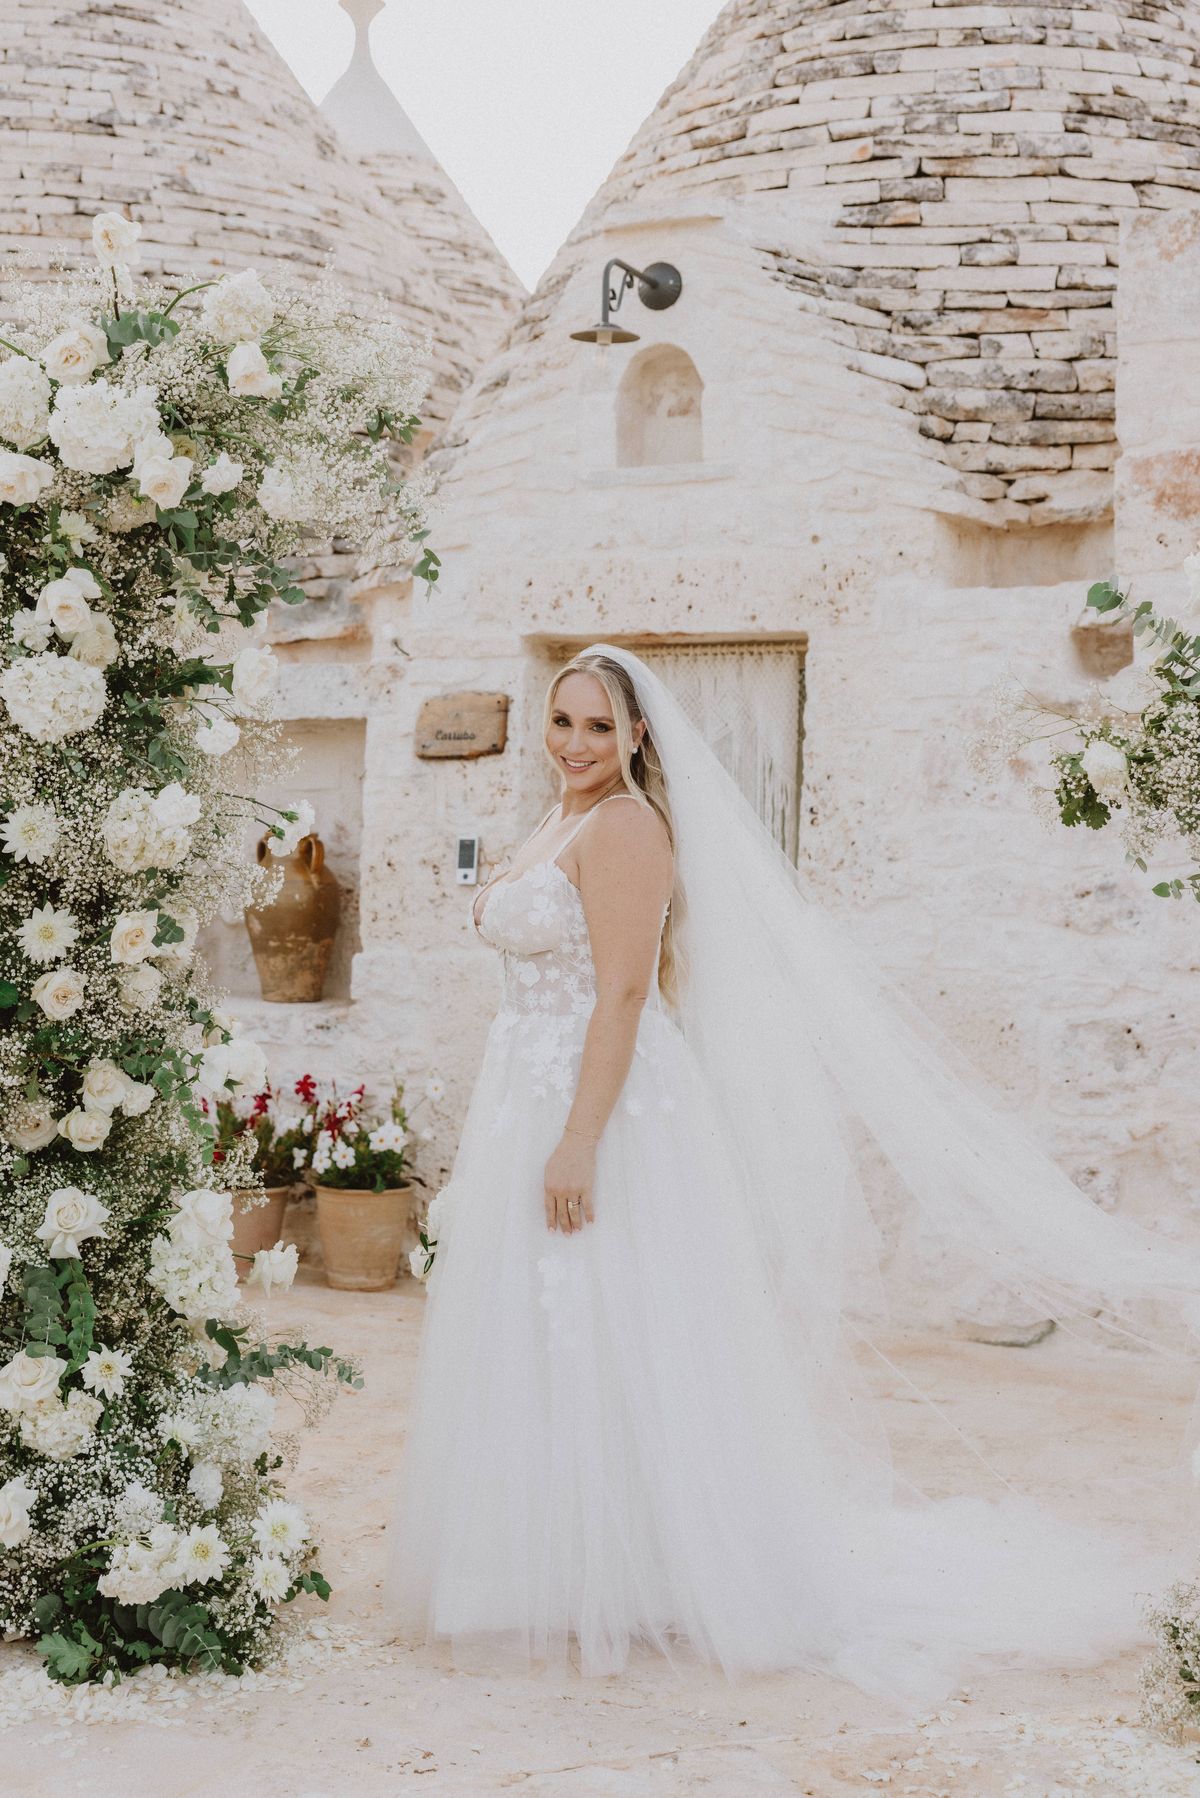
[[[302,1111],[288,1133],[297,1174],[320,1187],[387,1192],[419,1176],[408,1165],[410,1113],[405,1109],[403,1082],[396,1082],[383,1115],[367,1111],[365,1086],[347,1093],[336,1082],[320,1084],[311,1073],[295,1082]],[[437,1104],[443,1082],[430,1075],[417,1106]],[[414,1106],[414,1111],[417,1109]]]

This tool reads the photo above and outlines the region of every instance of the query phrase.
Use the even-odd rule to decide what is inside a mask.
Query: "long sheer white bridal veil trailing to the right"
[[[797,1381],[846,1478],[891,1487],[846,1347],[887,1314],[882,1269],[898,1253],[930,1284],[972,1268],[1065,1329],[1088,1320],[1178,1354],[1180,1323],[1200,1329],[1200,1251],[1088,1199],[871,967],[653,671],[612,644],[588,653],[628,669],[662,761],[676,1021],[720,1108]],[[867,1190],[887,1185],[885,1241]]]

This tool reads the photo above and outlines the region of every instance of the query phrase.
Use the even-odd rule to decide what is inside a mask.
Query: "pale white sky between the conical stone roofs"
[[[246,0],[313,99],[349,61],[340,0]],[[721,0],[389,0],[385,81],[527,286]]]

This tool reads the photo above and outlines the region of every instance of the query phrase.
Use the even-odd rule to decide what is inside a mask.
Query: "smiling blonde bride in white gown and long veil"
[[[849,1352],[883,1302],[858,1169],[905,1201],[892,1264],[975,1268],[1063,1329],[1189,1318],[1196,1259],[1097,1210],[883,989],[637,656],[556,674],[545,750],[561,802],[475,897],[504,996],[441,1206],[396,1622],[459,1661],[603,1674],[640,1643],[901,1705],[1128,1645],[1177,1568],[1007,1482],[898,1492]]]

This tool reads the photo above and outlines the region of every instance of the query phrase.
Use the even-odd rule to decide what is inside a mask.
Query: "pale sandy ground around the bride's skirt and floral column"
[[[79,1721],[56,1699],[4,1735],[0,1791],[372,1798],[419,1780],[428,1798],[1200,1793],[1200,1748],[1137,1724],[1139,1652],[1087,1672],[988,1674],[937,1713],[898,1721],[817,1676],[730,1687],[640,1654],[604,1679],[488,1678],[390,1643],[378,1579],[423,1304],[408,1278],[381,1295],[302,1278],[272,1300],[275,1327],[358,1354],[367,1375],[365,1392],[306,1437],[291,1482],[320,1523],[335,1586],[327,1609],[304,1600],[317,1634],[306,1625],[291,1670],[250,1692],[193,1681],[104,1721]],[[1022,1350],[932,1338],[885,1347],[1034,1496],[1141,1527],[1164,1548],[1187,1528],[1186,1489],[1171,1473],[1195,1379],[1186,1366],[1061,1336]],[[869,1372],[901,1469],[927,1491],[988,1491],[988,1474],[903,1381],[880,1363]],[[1094,1482],[1114,1478],[1099,1509]],[[25,1647],[7,1647],[5,1710],[22,1690],[41,1692],[43,1681]]]

